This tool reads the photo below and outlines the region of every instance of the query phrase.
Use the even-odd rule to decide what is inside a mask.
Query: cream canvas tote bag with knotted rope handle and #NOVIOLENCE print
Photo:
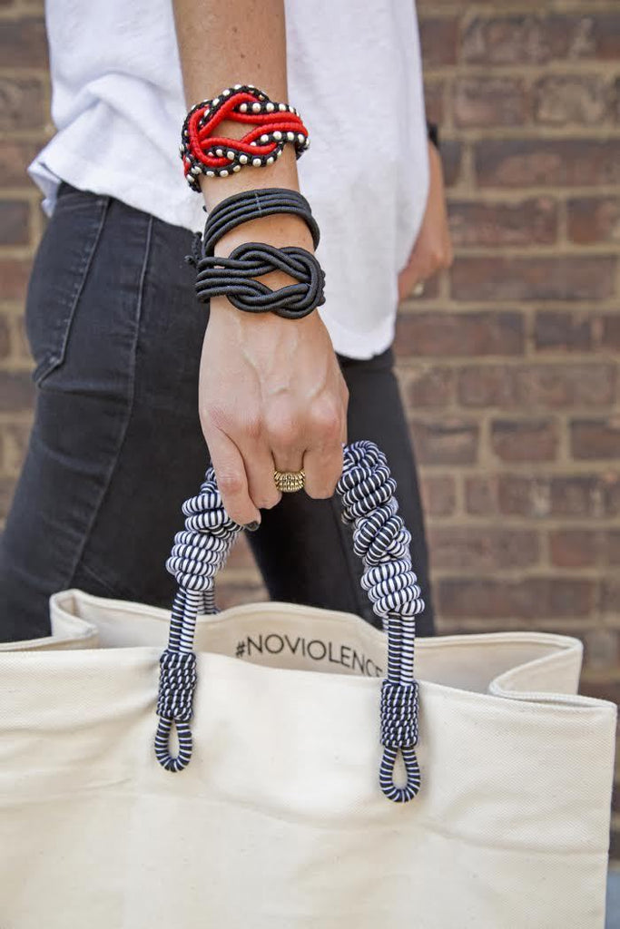
[[[2,929],[602,929],[615,707],[577,696],[565,635],[424,639],[415,681],[393,488],[347,449],[387,635],[280,603],[204,615],[236,531],[207,472],[171,622],[66,591],[49,638],[2,647]]]

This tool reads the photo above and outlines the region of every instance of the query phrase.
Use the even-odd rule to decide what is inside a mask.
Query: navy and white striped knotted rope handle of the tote
[[[381,686],[381,743],[384,747],[379,784],[395,803],[406,803],[420,787],[416,759],[417,684],[414,678],[416,615],[424,609],[412,569],[411,534],[398,515],[396,481],[386,457],[373,442],[361,441],[344,451],[337,492],[343,520],[353,524],[353,547],[363,561],[362,586],[388,634],[388,673]],[[178,593],[172,607],[168,646],[160,660],[160,686],[155,754],[167,771],[180,771],[191,759],[191,707],[196,685],[193,636],[200,611],[217,612],[213,584],[242,527],[228,517],[213,468],[200,493],[183,504],[185,530],[178,532],[166,568],[176,575]],[[169,748],[173,724],[178,752]],[[398,753],[406,783],[394,783]]]

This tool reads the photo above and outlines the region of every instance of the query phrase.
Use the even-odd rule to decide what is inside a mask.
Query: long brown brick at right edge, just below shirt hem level
[[[613,402],[613,364],[472,365],[458,378],[464,406],[557,409]]]

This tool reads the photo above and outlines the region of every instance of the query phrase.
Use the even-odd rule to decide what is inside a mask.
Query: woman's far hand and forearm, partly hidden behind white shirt
[[[409,261],[398,277],[399,300],[411,294],[416,284],[428,281],[443,268],[450,268],[453,261],[442,158],[432,142],[429,142],[429,172],[427,208]]]

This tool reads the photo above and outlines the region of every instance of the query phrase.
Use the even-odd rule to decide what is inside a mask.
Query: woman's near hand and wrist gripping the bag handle
[[[260,224],[253,236],[253,223]],[[240,242],[297,244],[312,250],[297,217],[245,223],[218,242],[230,254]],[[270,287],[294,282],[284,273],[259,278]],[[211,300],[204,335],[199,409],[204,438],[226,510],[235,522],[260,520],[278,503],[274,469],[306,473],[311,497],[330,497],[342,471],[349,393],[332,343],[314,310],[301,320],[244,313],[226,297]]]

